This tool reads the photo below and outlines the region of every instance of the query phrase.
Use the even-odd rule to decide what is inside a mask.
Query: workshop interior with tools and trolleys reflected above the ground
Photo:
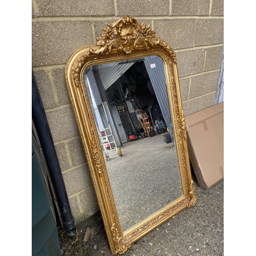
[[[174,143],[163,61],[148,56],[91,66],[85,81],[104,158],[123,143],[168,132]]]

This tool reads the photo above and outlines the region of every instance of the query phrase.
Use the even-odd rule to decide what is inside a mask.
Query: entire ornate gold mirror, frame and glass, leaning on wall
[[[177,59],[127,15],[67,62],[67,89],[112,254],[196,204]]]

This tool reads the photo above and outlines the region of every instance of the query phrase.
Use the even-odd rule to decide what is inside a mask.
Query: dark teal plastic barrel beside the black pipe
[[[32,134],[32,256],[61,256],[44,160]]]

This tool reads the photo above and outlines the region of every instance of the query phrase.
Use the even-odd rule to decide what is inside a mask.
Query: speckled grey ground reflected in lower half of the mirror
[[[165,134],[124,143],[122,156],[106,161],[122,231],[182,196],[177,153]]]

